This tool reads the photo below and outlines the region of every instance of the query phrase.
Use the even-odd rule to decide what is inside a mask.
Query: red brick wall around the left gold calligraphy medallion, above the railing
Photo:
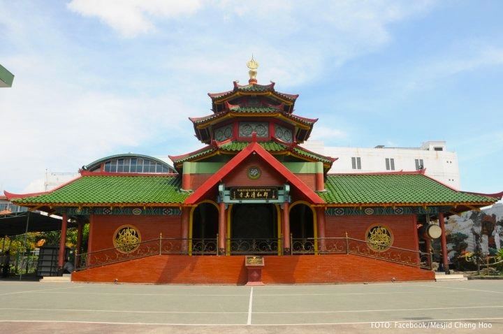
[[[89,231],[92,252],[114,247],[114,233],[125,224],[136,226],[142,241],[158,239],[159,233],[163,238],[180,238],[182,233],[181,216],[93,215]]]

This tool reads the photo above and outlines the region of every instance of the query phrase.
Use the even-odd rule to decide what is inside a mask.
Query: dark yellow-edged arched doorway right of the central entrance
[[[316,252],[316,215],[305,203],[294,203],[290,208],[290,233],[293,253]]]

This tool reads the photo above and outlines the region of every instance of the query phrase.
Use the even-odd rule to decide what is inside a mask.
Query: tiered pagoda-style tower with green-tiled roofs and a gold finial
[[[182,172],[184,162],[226,162],[238,154],[252,140],[282,162],[321,162],[326,173],[335,159],[324,157],[300,147],[309,138],[318,119],[293,114],[298,95],[275,90],[275,82],[258,85],[258,62],[248,61],[248,85],[239,85],[228,92],[209,93],[212,115],[189,118],[196,137],[207,144],[201,150],[171,157],[175,168]]]

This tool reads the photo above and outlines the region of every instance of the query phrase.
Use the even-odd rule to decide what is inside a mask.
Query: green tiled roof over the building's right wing
[[[497,198],[455,191],[422,174],[327,175],[326,191],[319,192],[331,204],[428,204],[494,203]]]

